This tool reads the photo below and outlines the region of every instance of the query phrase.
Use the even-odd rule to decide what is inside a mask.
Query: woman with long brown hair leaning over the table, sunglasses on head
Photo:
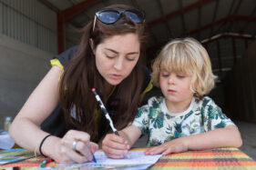
[[[16,115],[10,127],[15,142],[56,162],[91,161],[96,143],[111,132],[91,89],[96,88],[121,129],[132,121],[150,86],[142,65],[143,24],[144,14],[127,5],[98,11],[84,27],[80,45],[51,61],[53,67]],[[53,111],[57,118],[61,113],[65,117],[64,136],[39,127]]]

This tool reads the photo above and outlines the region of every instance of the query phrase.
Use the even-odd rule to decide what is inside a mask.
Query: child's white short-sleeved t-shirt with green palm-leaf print
[[[138,109],[132,123],[142,134],[148,134],[148,146],[161,145],[172,139],[197,135],[234,123],[210,97],[192,98],[189,108],[179,114],[170,113],[163,96],[151,97],[148,105]]]

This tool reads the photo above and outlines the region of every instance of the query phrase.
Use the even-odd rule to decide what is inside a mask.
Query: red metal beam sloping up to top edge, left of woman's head
[[[61,13],[64,15],[64,22],[67,22],[72,17],[74,17],[74,16],[80,14],[81,12],[83,12],[88,6],[94,5],[99,1],[100,0],[87,0],[87,1],[84,1],[84,2],[79,3],[77,5],[73,5],[69,8],[61,11]]]

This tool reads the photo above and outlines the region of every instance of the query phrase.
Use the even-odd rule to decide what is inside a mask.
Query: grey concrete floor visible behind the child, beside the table
[[[240,148],[241,151],[256,161],[256,124],[243,121],[234,122],[239,127],[241,132],[243,142],[243,145]],[[147,139],[147,135],[140,137],[133,147],[145,147],[147,144]]]

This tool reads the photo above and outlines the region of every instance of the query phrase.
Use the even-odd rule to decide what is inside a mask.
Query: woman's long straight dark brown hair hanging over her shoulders
[[[127,5],[110,5],[106,8],[118,8],[125,10]],[[116,87],[118,106],[112,117],[117,129],[121,129],[133,120],[138,109],[140,95],[143,91],[144,68],[143,47],[146,36],[143,24],[136,24],[126,15],[121,15],[114,24],[106,25],[96,20],[93,30],[93,21],[90,21],[83,29],[83,36],[78,46],[76,55],[64,66],[64,74],[60,82],[60,105],[62,106],[67,124],[73,124],[77,130],[82,130],[91,135],[91,140],[97,142],[98,136],[96,111],[99,108],[92,88],[96,88],[104,105],[107,105],[107,95],[104,91],[105,79],[98,73],[95,56],[89,45],[91,38],[94,49],[103,43],[105,39],[113,35],[126,35],[134,33],[140,41],[140,56],[137,65],[130,75]],[[71,112],[76,108],[76,121],[72,121]]]

